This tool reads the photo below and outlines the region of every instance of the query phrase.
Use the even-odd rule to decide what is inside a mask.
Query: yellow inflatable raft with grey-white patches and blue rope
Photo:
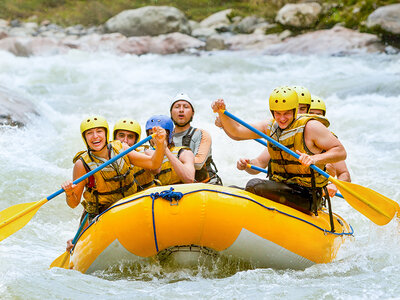
[[[171,187],[173,191],[171,191]],[[333,214],[310,216],[246,191],[209,184],[155,187],[122,199],[80,235],[69,268],[83,273],[160,254],[178,263],[199,253],[254,267],[305,269],[334,260],[353,229]]]

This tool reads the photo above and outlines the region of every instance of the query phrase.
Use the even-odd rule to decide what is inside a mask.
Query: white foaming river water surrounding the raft
[[[49,57],[0,52],[0,84],[31,99],[40,116],[23,129],[0,128],[0,210],[38,201],[71,177],[72,157],[84,144],[80,121],[100,114],[110,126],[124,116],[143,125],[168,114],[170,99],[194,100],[194,126],[208,130],[213,156],[227,185],[250,175],[239,157],[263,147],[235,142],[213,125],[211,102],[252,122],[269,118],[268,95],[280,85],[304,85],[325,99],[331,129],[348,152],[353,182],[400,202],[400,57],[264,56],[250,53],[116,56],[71,51]],[[261,175],[260,175],[261,176]],[[91,275],[48,270],[75,234],[81,208],[60,195],[43,205],[19,232],[0,244],[1,299],[265,298],[400,299],[400,227],[379,227],[333,200],[354,228],[336,260],[304,271],[248,269],[235,261],[178,269],[157,263],[116,266]]]

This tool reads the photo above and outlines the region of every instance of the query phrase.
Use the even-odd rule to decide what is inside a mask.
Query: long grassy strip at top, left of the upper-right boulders
[[[100,25],[125,9],[148,5],[168,5],[182,10],[190,19],[200,21],[220,10],[232,8],[234,15],[273,17],[284,5],[283,0],[1,0],[0,18],[28,20],[36,16],[38,22],[68,26],[75,24]],[[293,2],[293,1],[292,1]],[[272,12],[272,14],[271,14]]]

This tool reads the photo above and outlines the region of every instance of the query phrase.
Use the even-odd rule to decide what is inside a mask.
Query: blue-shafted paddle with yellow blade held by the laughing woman
[[[148,142],[155,136],[155,133],[149,135],[147,138],[141,140],[140,142],[136,143],[132,147],[126,149],[125,151],[121,152],[120,154],[116,155],[115,157],[111,158],[110,160],[106,161],[102,165],[98,166],[96,169],[86,173],[82,177],[78,178],[73,182],[73,184],[78,184],[79,182],[85,180],[89,176],[93,175],[94,173],[100,171],[104,167],[108,166],[109,164],[113,163],[117,159],[121,158],[122,156],[128,154],[132,150],[140,147],[144,143]],[[39,208],[53,199],[57,197],[61,193],[64,192],[64,189],[60,189],[57,192],[51,194],[47,198],[44,198],[37,202],[29,202],[29,203],[20,203],[13,205],[9,208],[0,212],[0,241],[4,240],[5,238],[9,237],[10,235],[14,234],[22,227],[24,227],[36,214]]]

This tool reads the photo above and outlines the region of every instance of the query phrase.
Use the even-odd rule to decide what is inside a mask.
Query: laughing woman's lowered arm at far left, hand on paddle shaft
[[[61,188],[64,189],[65,191],[67,204],[71,208],[77,207],[81,202],[83,189],[85,188],[88,179],[86,178],[85,180],[79,182],[78,184],[73,184],[72,181],[75,181],[76,179],[82,177],[85,174],[86,174],[86,169],[82,161],[79,159],[76,161],[74,165],[74,170],[72,175],[73,180],[67,180],[61,185]]]

